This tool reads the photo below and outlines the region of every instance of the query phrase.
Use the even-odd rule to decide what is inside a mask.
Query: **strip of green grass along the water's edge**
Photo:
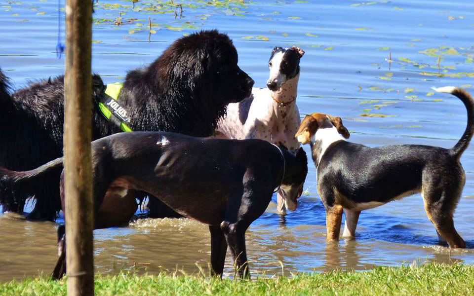
[[[367,272],[218,280],[183,274],[96,276],[96,295],[474,295],[473,265],[379,267]],[[0,295],[66,295],[66,281],[44,277],[0,284]]]

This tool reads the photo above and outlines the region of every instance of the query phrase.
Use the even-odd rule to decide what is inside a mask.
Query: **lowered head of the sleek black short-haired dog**
[[[292,155],[288,158],[285,157],[287,171],[280,185],[280,190],[283,193],[286,209],[294,211],[298,206],[298,198],[303,193],[303,185],[308,174],[308,158],[303,148],[299,148],[294,152],[285,152]]]

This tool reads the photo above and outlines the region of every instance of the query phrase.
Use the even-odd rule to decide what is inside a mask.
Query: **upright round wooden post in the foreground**
[[[68,296],[94,295],[91,174],[92,4],[66,1],[64,169]]]

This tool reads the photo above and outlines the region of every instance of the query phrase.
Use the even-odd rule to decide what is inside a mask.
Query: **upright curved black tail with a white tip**
[[[453,148],[449,149],[451,155],[454,157],[458,158],[461,157],[463,154],[464,150],[468,148],[469,142],[471,142],[471,138],[473,137],[474,134],[474,102],[473,98],[471,95],[464,89],[460,87],[454,87],[454,86],[445,86],[445,87],[439,87],[433,89],[437,92],[444,92],[448,94],[452,94],[456,97],[458,97],[466,106],[466,110],[468,112],[468,123],[466,126],[466,130],[464,131],[463,136],[461,139],[459,139],[458,143],[454,145]]]

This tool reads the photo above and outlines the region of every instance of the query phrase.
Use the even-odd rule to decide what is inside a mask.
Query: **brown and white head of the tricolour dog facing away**
[[[336,141],[349,139],[349,131],[342,124],[341,117],[313,113],[306,115],[295,134],[301,144],[310,144],[315,164],[319,163],[324,151]]]

